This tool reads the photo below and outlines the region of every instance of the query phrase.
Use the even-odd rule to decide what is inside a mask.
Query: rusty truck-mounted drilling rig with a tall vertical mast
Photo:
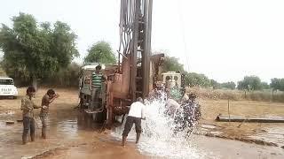
[[[80,107],[97,123],[113,125],[117,116],[128,113],[131,102],[146,98],[162,82],[163,54],[151,54],[153,0],[121,0],[118,63],[104,64],[99,102],[92,101],[91,72],[80,73]]]

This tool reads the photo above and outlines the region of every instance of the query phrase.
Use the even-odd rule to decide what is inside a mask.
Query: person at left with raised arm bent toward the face
[[[45,95],[43,95],[42,99],[42,110],[39,115],[39,117],[42,120],[42,138],[46,139],[46,127],[47,127],[47,117],[48,117],[48,111],[50,107],[50,103],[55,100],[55,98],[58,98],[59,95],[54,92],[53,89],[49,89]]]

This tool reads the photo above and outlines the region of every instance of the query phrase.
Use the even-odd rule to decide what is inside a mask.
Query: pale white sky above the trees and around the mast
[[[0,23],[20,11],[61,20],[78,35],[82,61],[93,42],[119,42],[119,0],[4,0]],[[153,50],[167,50],[190,72],[219,82],[284,78],[283,0],[154,0]]]

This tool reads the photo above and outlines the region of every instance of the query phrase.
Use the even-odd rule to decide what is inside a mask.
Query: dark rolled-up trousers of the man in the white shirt
[[[142,132],[141,118],[140,117],[128,116],[126,118],[126,122],[125,122],[125,125],[124,125],[124,130],[123,130],[122,136],[128,136],[128,133],[130,133],[130,130],[131,130],[133,124],[135,124],[136,133]]]

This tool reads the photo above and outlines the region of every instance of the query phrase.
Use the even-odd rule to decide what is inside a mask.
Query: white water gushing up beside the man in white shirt
[[[182,113],[181,116],[181,113],[178,113],[186,108],[186,104],[177,109],[174,115],[169,116],[165,113],[167,112],[166,102],[164,93],[159,98],[145,102],[146,120],[142,120],[143,133],[138,150],[145,155],[169,158],[203,158],[204,153],[195,148],[190,135],[196,123],[195,120],[188,118],[188,121],[184,122],[184,114]],[[122,138],[123,125],[114,130],[114,136]],[[135,140],[134,127],[128,136],[128,141]]]

